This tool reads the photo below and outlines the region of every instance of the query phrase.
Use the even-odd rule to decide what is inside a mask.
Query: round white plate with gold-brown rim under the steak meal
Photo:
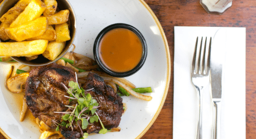
[[[156,16],[144,1],[139,0],[87,0],[70,1],[77,17],[75,52],[93,58],[93,43],[98,33],[114,23],[126,23],[136,27],[144,35],[148,56],[140,71],[126,79],[136,87],[152,87],[150,102],[134,97],[123,97],[127,111],[123,114],[120,132],[92,135],[90,138],[140,138],[154,123],[164,104],[170,81],[170,55],[164,31]],[[5,88],[6,74],[10,66],[0,63],[0,131],[6,138],[39,138],[36,124],[28,119],[19,122],[19,110],[14,94]]]

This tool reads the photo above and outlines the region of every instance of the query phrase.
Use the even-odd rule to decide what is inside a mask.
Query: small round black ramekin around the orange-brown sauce
[[[142,58],[141,58],[140,62],[138,63],[138,65],[130,71],[126,71],[126,72],[112,71],[109,68],[107,68],[100,59],[99,45],[100,45],[101,39],[103,38],[103,36],[106,33],[108,33],[108,31],[110,31],[112,29],[115,29],[115,28],[129,29],[129,30],[133,31],[138,36],[138,38],[140,38],[140,40],[141,40],[141,43],[142,43]],[[109,25],[109,26],[105,27],[104,29],[102,29],[100,31],[100,33],[98,34],[98,36],[96,37],[96,39],[94,41],[94,45],[93,45],[93,55],[94,55],[95,61],[99,65],[99,67],[103,71],[108,73],[110,76],[113,76],[113,77],[127,77],[127,76],[131,76],[132,74],[134,74],[135,72],[140,70],[141,67],[144,65],[144,63],[146,61],[146,57],[147,57],[147,44],[146,44],[146,40],[143,37],[143,35],[141,34],[141,32],[138,29],[136,29],[135,27],[133,27],[131,25],[128,25],[128,24],[123,24],[123,23],[112,24],[112,25]]]

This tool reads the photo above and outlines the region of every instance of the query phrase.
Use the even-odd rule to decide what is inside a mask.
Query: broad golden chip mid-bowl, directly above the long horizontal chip
[[[5,29],[7,36],[16,41],[23,41],[28,38],[41,36],[48,28],[46,17],[39,17],[19,27],[9,27]]]

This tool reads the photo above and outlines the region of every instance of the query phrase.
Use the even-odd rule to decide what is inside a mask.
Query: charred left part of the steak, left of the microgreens
[[[36,67],[29,72],[25,90],[29,110],[35,117],[44,121],[49,127],[56,128],[52,122],[60,123],[62,114],[55,111],[66,111],[70,102],[64,95],[67,91],[61,85],[68,86],[69,81],[76,81],[76,75],[70,68],[52,63]]]

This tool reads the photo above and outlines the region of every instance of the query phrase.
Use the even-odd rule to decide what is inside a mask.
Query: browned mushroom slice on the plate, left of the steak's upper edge
[[[20,93],[23,91],[23,85],[29,76],[29,72],[16,74],[16,76],[11,77],[7,80],[7,88],[14,93]]]

